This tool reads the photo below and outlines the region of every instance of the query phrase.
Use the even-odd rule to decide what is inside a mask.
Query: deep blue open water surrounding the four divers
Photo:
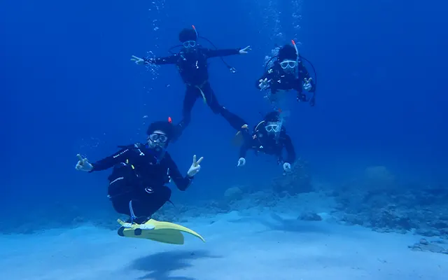
[[[316,106],[291,99],[286,127],[311,176],[338,186],[369,166],[403,183],[447,186],[447,20],[442,1],[3,1],[0,9],[0,211],[41,223],[76,207],[110,209],[109,172],[76,172],[116,146],[144,141],[153,120],[181,118],[184,85],[174,66],[148,71],[131,55],[168,55],[195,25],[218,48],[253,49],[215,59],[210,80],[220,102],[254,125],[269,104],[255,89],[264,57],[295,38],[318,73]],[[147,116],[147,117],[146,117]],[[197,102],[170,151],[181,170],[193,154],[202,171],[172,200],[218,199],[231,186],[263,188],[281,167],[248,157],[237,169],[235,132]],[[69,215],[69,216],[67,216]],[[95,216],[98,218],[98,215]],[[108,217],[109,218],[109,217]]]

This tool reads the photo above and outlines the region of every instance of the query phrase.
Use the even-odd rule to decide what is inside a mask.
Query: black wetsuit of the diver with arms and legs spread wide
[[[238,54],[239,49],[209,50],[207,48],[197,47],[191,50],[191,52],[181,51],[179,54],[169,57],[144,59],[148,64],[176,64],[183,83],[187,86],[186,95],[183,99],[183,120],[179,123],[181,131],[190,123],[191,110],[198,98],[203,99],[209,105],[211,111],[216,114],[221,114],[235,130],[241,129],[241,125],[244,125],[244,120],[219,104],[214,91],[211,89],[207,68],[207,59],[211,57],[224,57]]]

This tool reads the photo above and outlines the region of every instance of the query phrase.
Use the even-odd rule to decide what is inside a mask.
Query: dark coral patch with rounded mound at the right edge
[[[365,178],[344,184],[332,195],[338,202],[332,214],[342,223],[448,237],[448,188],[405,188],[385,167],[371,167]]]

